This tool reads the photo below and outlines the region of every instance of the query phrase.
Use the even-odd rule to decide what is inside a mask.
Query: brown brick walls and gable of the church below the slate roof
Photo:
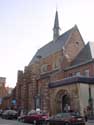
[[[72,72],[74,72],[74,70],[64,71],[63,69],[71,64],[71,61],[84,47],[83,40],[77,29],[72,33],[68,44],[64,47],[65,51],[62,49],[46,58],[41,58],[33,65],[25,67],[23,72],[18,73],[16,96],[17,102],[20,106],[27,108],[27,110],[35,109],[34,98],[37,95],[37,92],[40,91],[39,94],[41,94],[42,110],[49,111],[50,113],[53,112],[52,98],[54,96],[54,92],[56,93],[56,90],[49,90],[48,83],[68,77]],[[59,68],[53,69],[53,64],[56,61],[59,61]],[[48,65],[48,71],[43,74],[41,72],[41,67],[44,64]],[[75,71],[78,71],[78,69],[82,71],[82,67],[78,67]]]

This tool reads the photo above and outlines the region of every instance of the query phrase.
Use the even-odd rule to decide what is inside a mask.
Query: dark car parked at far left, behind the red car
[[[17,119],[18,113],[15,110],[5,110],[2,113],[2,118],[4,119]]]

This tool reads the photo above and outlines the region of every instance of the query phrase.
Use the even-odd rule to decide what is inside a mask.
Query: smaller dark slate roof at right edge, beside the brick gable
[[[94,43],[88,42],[72,62],[71,66],[94,59]]]

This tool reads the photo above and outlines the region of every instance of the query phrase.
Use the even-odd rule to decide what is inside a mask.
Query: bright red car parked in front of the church
[[[26,123],[32,123],[32,124],[42,124],[48,119],[48,114],[47,113],[29,113],[28,115],[24,115],[20,118],[18,118],[19,121],[23,121]]]

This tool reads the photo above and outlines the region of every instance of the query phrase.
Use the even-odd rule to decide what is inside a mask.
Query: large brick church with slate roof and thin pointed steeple
[[[53,40],[38,49],[24,71],[18,71],[17,106],[26,111],[41,109],[56,114],[66,104],[83,114],[93,108],[94,44],[84,40],[77,25],[59,34],[55,14]]]

